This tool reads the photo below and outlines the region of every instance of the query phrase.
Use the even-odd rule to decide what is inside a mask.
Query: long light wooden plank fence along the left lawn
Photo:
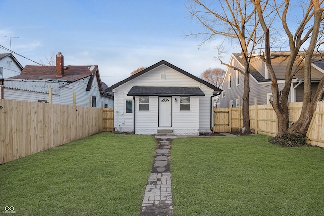
[[[103,131],[103,109],[0,99],[0,164]]]

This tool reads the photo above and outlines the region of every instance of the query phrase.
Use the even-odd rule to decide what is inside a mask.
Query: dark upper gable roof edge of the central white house
[[[206,85],[207,87],[213,89],[214,91],[218,91],[218,92],[221,91],[221,89],[215,87],[215,85],[212,85],[212,84],[206,82],[205,80],[200,79],[200,78],[198,78],[198,77],[196,77],[196,76],[194,76],[194,75],[192,75],[192,74],[190,74],[190,73],[188,73],[188,72],[186,72],[186,71],[184,71],[184,70],[170,64],[169,62],[167,62],[165,60],[162,60],[162,61],[160,61],[160,62],[158,62],[158,63],[156,63],[156,64],[154,64],[154,65],[152,65],[152,66],[150,66],[150,67],[148,67],[148,68],[146,68],[146,69],[144,69],[144,70],[142,70],[142,71],[140,71],[140,72],[138,72],[138,73],[136,73],[136,74],[134,74],[134,75],[132,75],[132,76],[130,76],[130,77],[116,83],[116,84],[114,84],[114,85],[112,85],[111,87],[106,89],[106,91],[110,92],[113,89],[119,87],[120,85],[125,84],[125,83],[135,79],[136,77],[139,77],[139,76],[141,76],[141,75],[143,75],[143,74],[145,74],[145,73],[147,73],[147,72],[149,72],[149,71],[151,71],[151,70],[153,70],[153,69],[155,69],[155,68],[157,68],[157,67],[159,67],[161,65],[166,65],[166,66],[178,71],[179,73],[182,73],[183,75],[186,75],[186,76],[190,77],[191,79],[194,79],[194,80],[200,82],[201,84]]]

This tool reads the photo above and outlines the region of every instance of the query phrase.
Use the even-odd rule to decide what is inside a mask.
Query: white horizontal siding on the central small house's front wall
[[[161,74],[166,80],[161,80]],[[113,92],[114,97],[114,127],[119,131],[133,131],[131,114],[121,115],[120,110],[125,110],[125,100],[131,100],[127,93],[133,86],[182,86],[199,87],[205,96],[190,96],[190,110],[180,112],[180,97],[172,97],[172,129],[179,134],[197,134],[210,132],[211,122],[211,96],[213,90],[200,82],[178,72],[168,66],[161,65],[145,74],[138,76],[125,84],[119,85]],[[174,99],[177,99],[175,102]],[[121,101],[120,101],[121,100]],[[149,111],[139,111],[138,96],[135,96],[134,112],[135,130],[137,134],[156,134],[158,129],[158,96],[149,97]],[[119,110],[119,114],[116,111]]]

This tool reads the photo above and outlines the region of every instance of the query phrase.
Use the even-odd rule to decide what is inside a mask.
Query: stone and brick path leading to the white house
[[[170,174],[170,148],[173,138],[175,137],[156,137],[156,153],[140,216],[173,216]]]

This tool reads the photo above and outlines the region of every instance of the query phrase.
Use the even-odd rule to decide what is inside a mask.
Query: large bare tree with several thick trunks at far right
[[[271,64],[271,53],[270,53],[270,41],[269,41],[269,31],[270,26],[265,22],[266,14],[263,13],[262,6],[264,1],[261,0],[251,0],[255,5],[255,8],[258,12],[258,17],[262,26],[263,31],[266,33],[265,40],[265,56],[263,60],[266,63],[268,68],[271,81],[272,81],[272,94],[273,101],[270,103],[275,110],[278,122],[278,136],[281,137],[285,133],[294,134],[294,135],[306,135],[310,121],[312,119],[313,113],[316,109],[317,101],[319,101],[324,95],[324,77],[321,79],[317,91],[314,97],[311,99],[311,64],[312,58],[314,56],[314,50],[318,48],[320,43],[320,34],[321,21],[323,20],[323,8],[320,6],[323,3],[323,0],[312,0],[312,1],[289,1],[286,0],[284,4],[277,4],[277,1],[273,0],[272,8],[275,9],[276,14],[280,18],[280,23],[286,37],[288,38],[289,48],[290,48],[290,58],[286,67],[285,75],[285,86],[282,91],[279,92],[277,78],[274,73],[272,64]],[[281,1],[280,1],[281,3]],[[294,25],[291,24],[289,17],[291,7],[300,8],[298,16],[301,19],[294,17]],[[293,13],[293,14],[296,14]],[[292,30],[294,29],[294,30]],[[293,32],[294,31],[294,32]],[[308,46],[303,48],[302,46]],[[303,50],[301,53],[300,51]],[[289,116],[288,116],[288,97],[291,87],[292,78],[295,73],[292,71],[293,65],[296,64],[298,56],[304,58],[304,100],[301,115],[296,123],[294,123],[289,128]]]

